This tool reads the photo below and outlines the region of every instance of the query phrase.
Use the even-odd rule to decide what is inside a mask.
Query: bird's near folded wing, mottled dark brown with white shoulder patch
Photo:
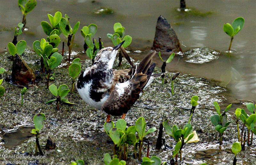
[[[127,86],[124,87],[124,93],[120,95],[119,88],[126,83]],[[141,88],[147,83],[147,75],[142,73],[135,74],[133,78],[126,83],[116,84],[115,89],[112,90],[108,99],[101,106],[101,109],[107,114],[113,116],[126,114],[140,97]]]

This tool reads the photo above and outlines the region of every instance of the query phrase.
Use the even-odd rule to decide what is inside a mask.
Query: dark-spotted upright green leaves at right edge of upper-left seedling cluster
[[[68,37],[68,35],[74,35],[76,33],[76,31],[79,28],[80,22],[77,21],[74,28],[72,29],[69,24],[69,17],[67,14],[65,14],[65,18],[63,18],[63,17],[61,18],[59,25],[60,25],[60,30],[63,33],[63,35]]]

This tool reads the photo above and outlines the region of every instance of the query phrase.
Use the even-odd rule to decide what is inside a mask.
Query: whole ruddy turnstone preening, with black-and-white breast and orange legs
[[[87,67],[77,81],[80,96],[90,106],[105,111],[107,122],[110,115],[122,115],[124,119],[125,114],[140,97],[141,91],[161,75],[152,75],[156,64],[151,65],[151,61],[156,51],[150,52],[137,66],[133,66],[126,54],[132,68],[113,69],[117,51],[123,43],[124,41],[113,48],[101,49],[95,56],[93,65]],[[124,53],[125,50],[120,49]]]

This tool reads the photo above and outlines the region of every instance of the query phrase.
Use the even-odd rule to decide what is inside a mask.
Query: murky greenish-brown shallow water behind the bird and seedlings
[[[10,3],[12,2],[12,3]],[[121,22],[126,34],[131,35],[133,50],[144,50],[151,47],[155,35],[156,20],[163,15],[175,30],[182,50],[187,51],[195,46],[207,46],[221,52],[218,59],[206,64],[193,64],[184,60],[174,59],[167,65],[167,70],[191,73],[209,79],[222,81],[234,100],[256,100],[256,2],[249,1],[215,1],[215,0],[189,0],[187,7],[192,9],[189,13],[177,12],[179,1],[85,1],[85,0],[56,0],[38,1],[36,8],[27,15],[28,31],[18,36],[18,40],[27,41],[27,47],[32,48],[35,40],[46,37],[40,22],[48,21],[47,13],[52,15],[56,11],[67,13],[71,26],[80,21],[80,28],[90,23],[98,25],[95,38],[100,36],[104,46],[111,46],[107,33],[113,33],[115,22]],[[102,7],[113,10],[111,14],[95,14],[95,10]],[[7,47],[12,41],[13,29],[22,20],[21,12],[16,1],[1,0],[0,5],[0,49]],[[232,55],[227,57],[230,37],[222,28],[224,23],[232,23],[242,16],[245,19],[244,28],[234,37]],[[61,39],[65,37],[61,35]],[[75,37],[74,50],[83,50],[84,39],[79,31]],[[61,45],[61,44],[60,44]],[[59,46],[61,49],[61,46]],[[67,46],[65,46],[67,49]],[[142,57],[139,57],[140,59]],[[159,58],[154,59],[158,66]],[[229,83],[228,83],[229,82]]]

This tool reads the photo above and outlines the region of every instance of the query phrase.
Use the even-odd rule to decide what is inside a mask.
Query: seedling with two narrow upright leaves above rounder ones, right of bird
[[[220,145],[222,145],[223,132],[227,129],[228,125],[231,123],[231,122],[227,122],[228,116],[226,112],[231,108],[232,104],[226,107],[223,114],[220,113],[220,106],[216,101],[214,101],[214,106],[218,114],[214,114],[211,116],[211,122],[213,125],[215,125],[215,130],[217,130],[220,134]]]

